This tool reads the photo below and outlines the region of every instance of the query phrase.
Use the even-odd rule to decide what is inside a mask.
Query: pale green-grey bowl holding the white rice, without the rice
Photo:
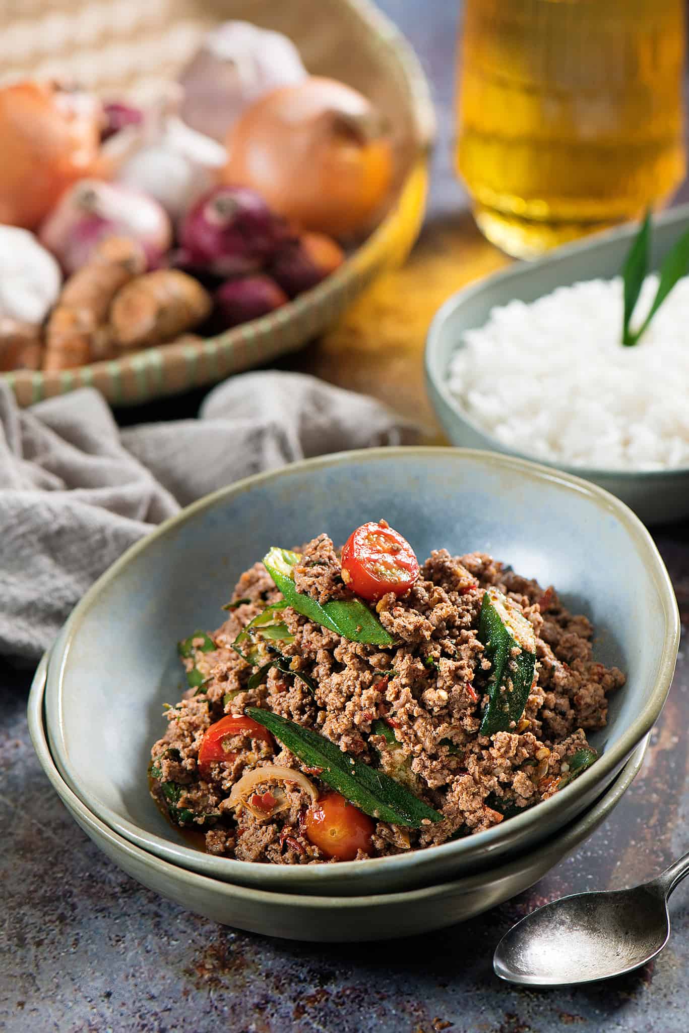
[[[455,352],[463,347],[468,330],[482,326],[496,306],[516,299],[534,302],[581,280],[610,279],[622,268],[636,224],[619,226],[604,233],[557,248],[534,262],[518,262],[452,294],[439,309],[426,345],[426,383],[431,403],[453,445],[487,448],[521,459],[534,459],[510,448],[489,434],[465,412],[447,386],[447,370]],[[689,205],[672,209],[654,219],[652,269],[657,269],[682,233],[689,229]],[[550,464],[549,464],[550,465]],[[667,470],[614,470],[552,464],[586,477],[631,506],[646,524],[659,524],[689,516],[689,467]]]

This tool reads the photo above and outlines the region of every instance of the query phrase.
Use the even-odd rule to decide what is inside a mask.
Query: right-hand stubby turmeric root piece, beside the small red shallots
[[[197,326],[212,305],[197,280],[176,269],[160,269],[122,288],[113,302],[109,324],[120,347],[143,348]]]

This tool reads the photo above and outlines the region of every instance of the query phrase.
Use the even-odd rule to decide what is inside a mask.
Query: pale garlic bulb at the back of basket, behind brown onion
[[[224,140],[232,122],[270,90],[306,79],[299,51],[281,32],[224,22],[182,71],[180,112],[187,125]]]

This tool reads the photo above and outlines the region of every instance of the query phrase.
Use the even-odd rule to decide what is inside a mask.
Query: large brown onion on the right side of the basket
[[[393,182],[379,114],[356,90],[320,76],[252,104],[227,151],[223,182],[252,187],[302,229],[338,239],[370,228]]]

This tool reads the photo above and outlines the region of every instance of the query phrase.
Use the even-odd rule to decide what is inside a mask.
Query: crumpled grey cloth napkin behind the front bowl
[[[310,456],[417,439],[379,402],[297,373],[245,373],[197,419],[125,430],[95,389],[23,410],[0,380],[0,654],[37,659],[129,545],[208,492]]]

